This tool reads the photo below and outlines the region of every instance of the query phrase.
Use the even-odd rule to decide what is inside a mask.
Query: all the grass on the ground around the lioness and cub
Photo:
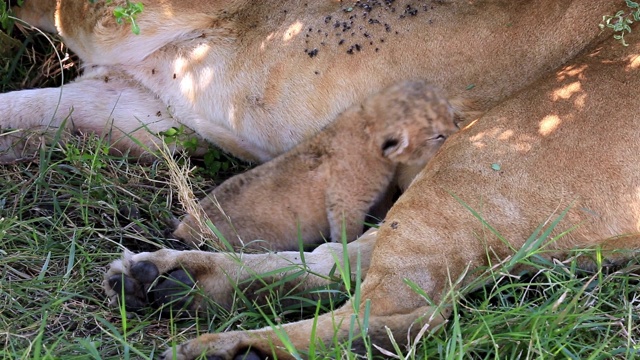
[[[55,74],[43,75],[59,64],[41,37],[14,32],[20,45],[1,59],[1,91],[58,84]],[[56,41],[55,46],[61,45]],[[76,68],[70,59],[65,71]],[[239,297],[231,311],[195,319],[158,319],[151,311],[126,316],[108,308],[100,283],[109,262],[124,247],[179,248],[165,238],[165,220],[183,210],[166,162],[136,164],[104,150],[99,139],[76,138],[43,149],[35,162],[0,166],[1,359],[153,358],[198,333],[295,321],[327,311],[347,296],[360,296],[358,281],[343,277],[349,291],[321,306],[304,301],[298,302],[302,307],[278,305],[283,299],[297,304],[300,294],[275,284],[265,287],[266,306]],[[196,171],[196,196],[246,168],[225,161],[227,172]],[[580,271],[576,257],[562,263],[540,260],[535,255],[543,250],[532,239],[528,251],[503,264],[526,265],[528,272],[503,275],[502,266],[481,269],[488,285],[450,294],[454,316],[440,331],[424,333],[410,350],[387,350],[408,359],[635,357],[640,342],[637,261]],[[594,251],[585,254],[598,258]],[[337,268],[340,273],[349,270]],[[366,316],[356,320],[367,321]],[[338,342],[316,344],[314,357],[355,359],[347,348]]]

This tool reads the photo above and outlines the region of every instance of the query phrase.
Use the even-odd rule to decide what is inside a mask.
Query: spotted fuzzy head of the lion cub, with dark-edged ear
[[[426,164],[458,130],[447,99],[424,81],[386,88],[369,97],[361,110],[373,146],[394,163]]]

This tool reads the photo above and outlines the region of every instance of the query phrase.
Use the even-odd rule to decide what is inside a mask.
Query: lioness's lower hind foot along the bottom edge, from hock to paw
[[[404,342],[407,337],[407,329],[410,335],[415,336],[423,327],[433,329],[442,324],[448,314],[438,311],[430,306],[422,306],[408,313],[394,314],[384,312],[376,314],[376,306],[372,305],[372,313],[368,316],[366,336],[371,339],[371,344],[380,349],[392,349],[393,338]],[[351,350],[361,354],[366,353],[365,344],[360,336],[361,331],[357,324],[364,321],[362,309],[358,314],[360,322],[352,323],[354,316],[351,303],[333,313],[324,314],[317,319],[309,319],[295,323],[285,324],[274,330],[272,327],[254,331],[233,331],[218,334],[204,334],[165,351],[161,359],[191,360],[201,356],[207,359],[231,360],[231,359],[270,359],[276,355],[278,359],[294,359],[283,345],[281,338],[286,334],[293,348],[304,354],[309,348],[310,342],[333,343],[334,339],[343,342],[351,335]],[[355,326],[355,327],[354,327]],[[353,328],[352,328],[353,327]],[[315,334],[315,339],[310,338]],[[376,351],[374,349],[374,351]]]

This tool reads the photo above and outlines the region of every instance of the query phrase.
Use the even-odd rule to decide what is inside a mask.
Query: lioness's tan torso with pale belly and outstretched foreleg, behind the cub
[[[266,161],[414,78],[486,110],[581,51],[615,10],[607,0],[396,1],[371,10],[332,0],[148,0],[134,35],[112,14],[124,3],[26,0],[16,10],[57,30],[85,72],[62,93],[0,94],[0,128],[26,133],[0,136],[0,161],[30,156],[40,135],[63,125],[144,156],[159,132],[180,124]]]

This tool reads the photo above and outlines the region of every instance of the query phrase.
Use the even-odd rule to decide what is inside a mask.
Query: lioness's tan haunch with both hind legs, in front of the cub
[[[392,349],[385,329],[404,342],[407,334],[414,336],[449,315],[450,308],[432,307],[408,281],[438,304],[456,279],[464,285],[477,274],[470,270],[508,259],[539,224],[565,210],[540,256],[562,259],[575,247],[600,247],[604,261],[616,263],[639,249],[640,114],[635,104],[640,100],[640,37],[629,42],[625,48],[612,40],[586,52],[451,136],[380,230],[349,244],[349,257],[361,252],[366,271],[361,303],[283,325],[280,331],[295,349],[308,349],[312,334],[325,344],[334,337],[346,340],[353,309],[364,316],[367,301],[371,342]],[[338,255],[328,256],[333,251]],[[321,245],[305,254],[306,263],[313,273],[326,275],[333,259],[342,259],[340,252],[334,244]],[[144,300],[143,293],[127,289],[148,289],[158,274],[180,269],[228,304],[232,287],[225,275],[243,279],[297,258],[298,252],[252,255],[238,267],[219,253],[128,254],[112,264],[105,286],[116,298],[123,289],[114,291],[111,285],[121,286],[125,274],[125,300],[135,304]],[[318,283],[312,278],[309,285]],[[354,350],[362,351],[362,345],[361,339],[353,342]],[[271,358],[272,353],[292,358],[271,328],[202,335],[164,358],[172,358],[175,350],[181,360],[203,354],[233,359],[248,348],[251,359]]]

